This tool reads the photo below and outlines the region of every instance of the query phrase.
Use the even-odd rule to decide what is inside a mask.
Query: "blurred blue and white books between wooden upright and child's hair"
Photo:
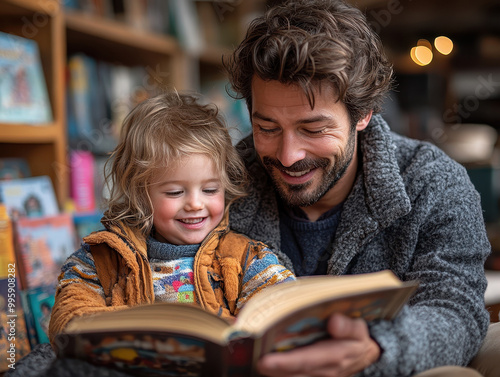
[[[96,60],[83,53],[68,58],[68,143],[72,149],[106,154],[115,146],[130,110],[156,94],[145,67]]]

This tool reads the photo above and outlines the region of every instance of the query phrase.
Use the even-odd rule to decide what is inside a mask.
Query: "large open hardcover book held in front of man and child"
[[[303,277],[263,290],[232,323],[189,304],[142,305],[73,319],[56,353],[140,376],[254,376],[263,354],[326,338],[333,313],[392,319],[417,286],[390,271]]]

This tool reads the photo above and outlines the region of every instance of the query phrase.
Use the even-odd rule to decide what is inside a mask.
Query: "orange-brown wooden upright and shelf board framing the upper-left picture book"
[[[48,175],[60,201],[67,196],[64,112],[64,23],[51,0],[0,1],[0,31],[35,40],[40,50],[53,121],[0,124],[0,157],[25,158],[33,175]]]

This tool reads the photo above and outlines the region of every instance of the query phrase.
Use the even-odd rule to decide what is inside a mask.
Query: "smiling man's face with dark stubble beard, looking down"
[[[347,109],[331,87],[317,87],[314,94],[311,109],[297,85],[258,77],[252,81],[255,148],[290,206],[311,206],[333,195],[356,151],[356,130],[366,127],[351,127]]]

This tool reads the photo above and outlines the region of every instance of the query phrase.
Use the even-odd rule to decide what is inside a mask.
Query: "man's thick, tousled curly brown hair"
[[[251,22],[224,67],[252,111],[252,78],[313,89],[331,83],[355,124],[379,112],[392,77],[382,44],[357,8],[337,0],[292,0]]]

